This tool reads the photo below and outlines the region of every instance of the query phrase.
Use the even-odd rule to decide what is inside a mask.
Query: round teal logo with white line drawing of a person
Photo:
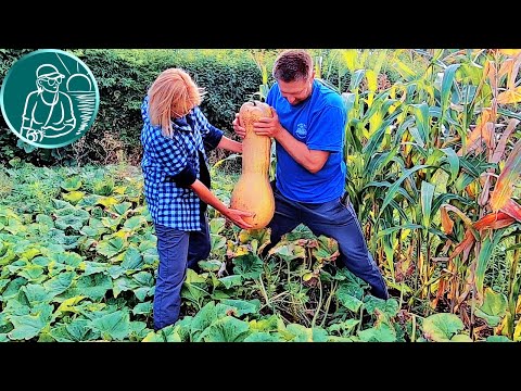
[[[3,117],[23,141],[40,148],[67,146],[92,126],[100,92],[75,55],[43,49],[17,60],[0,90]]]

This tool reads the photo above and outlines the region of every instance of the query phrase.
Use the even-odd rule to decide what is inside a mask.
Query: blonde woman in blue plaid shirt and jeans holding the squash
[[[242,152],[242,143],[224,136],[200,110],[204,91],[180,68],[161,73],[141,105],[141,167],[144,197],[157,237],[160,265],[153,321],[158,330],[179,318],[187,267],[199,270],[211,241],[206,205],[241,228],[251,228],[249,212],[229,209],[209,190],[206,151]]]

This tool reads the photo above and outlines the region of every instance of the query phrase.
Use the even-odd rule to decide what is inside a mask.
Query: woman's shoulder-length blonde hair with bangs
[[[183,117],[200,105],[204,93],[183,70],[163,71],[149,89],[151,124],[160,125],[163,135],[171,137],[171,119]]]

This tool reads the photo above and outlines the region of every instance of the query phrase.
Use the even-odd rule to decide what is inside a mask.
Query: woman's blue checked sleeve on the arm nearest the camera
[[[168,176],[175,176],[188,165],[187,147],[178,138],[163,135],[154,140],[154,152],[157,162]]]

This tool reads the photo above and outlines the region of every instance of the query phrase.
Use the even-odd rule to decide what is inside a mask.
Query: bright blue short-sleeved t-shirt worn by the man
[[[322,169],[312,174],[277,142],[277,189],[285,198],[298,202],[322,203],[341,197],[346,175],[342,156],[346,112],[342,97],[314,80],[312,94],[291,105],[275,84],[266,103],[277,111],[280,124],[294,138],[310,150],[331,152]]]

